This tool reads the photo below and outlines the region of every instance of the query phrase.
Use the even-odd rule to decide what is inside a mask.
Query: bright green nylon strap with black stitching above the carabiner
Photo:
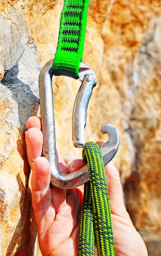
[[[89,0],[64,0],[58,47],[53,62],[55,76],[78,79],[86,33]]]

